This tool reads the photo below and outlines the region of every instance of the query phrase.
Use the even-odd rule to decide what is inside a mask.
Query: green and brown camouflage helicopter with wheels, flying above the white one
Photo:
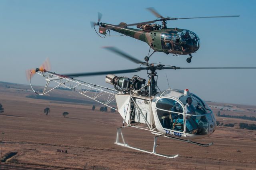
[[[186,59],[188,63],[191,62],[192,53],[195,53],[200,47],[200,38],[192,31],[181,29],[181,28],[167,28],[166,21],[168,20],[182,20],[182,19],[196,19],[196,18],[227,18],[227,17],[239,17],[239,16],[208,16],[208,17],[194,17],[194,18],[170,18],[163,17],[154,8],[147,8],[152,12],[157,18],[156,20],[139,22],[134,24],[126,24],[121,22],[119,25],[107,24],[100,22],[102,14],[98,12],[98,22],[91,22],[91,26],[99,26],[99,33],[104,35],[98,36],[105,38],[110,35],[110,30],[124,34],[125,36],[130,36],[136,38],[140,41],[146,42],[150,49],[154,51],[150,54],[150,49],[148,51],[148,56],[144,57],[145,61],[155,53],[164,52],[166,54],[172,53],[176,55],[189,55]],[[152,24],[154,22],[161,21],[162,26],[159,24]],[[139,29],[128,28],[128,26],[137,26]],[[108,34],[109,33],[109,34]]]

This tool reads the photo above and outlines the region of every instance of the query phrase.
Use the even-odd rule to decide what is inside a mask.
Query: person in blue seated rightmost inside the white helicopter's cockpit
[[[196,111],[194,106],[192,105],[192,98],[188,97],[186,99],[185,110],[186,114],[195,115]],[[198,132],[198,122],[193,116],[186,117],[186,128],[191,134],[196,134]]]

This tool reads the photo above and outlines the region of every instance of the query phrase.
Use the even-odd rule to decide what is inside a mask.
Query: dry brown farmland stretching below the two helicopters
[[[210,147],[158,138],[158,153],[180,154],[168,159],[115,145],[116,128],[122,126],[118,113],[92,111],[92,105],[30,99],[25,96],[33,93],[21,90],[29,89],[28,86],[10,86],[6,88],[0,83],[0,103],[5,109],[0,113],[0,132],[4,132],[2,155],[18,152],[9,162],[35,169],[83,169],[85,165],[87,169],[256,169],[256,130],[238,126],[240,122],[256,124],[255,121],[216,117],[223,123],[235,123],[235,127],[217,127],[210,137],[196,140],[214,142]],[[65,93],[62,97],[78,97],[75,92],[63,90],[51,95],[60,93]],[[256,106],[237,106],[245,112],[221,114],[256,115],[248,110],[256,110]],[[46,107],[50,108],[47,116]],[[64,118],[63,112],[69,115]],[[150,132],[125,128],[123,133],[131,146],[152,151],[154,135]],[[57,149],[68,153],[56,152]]]

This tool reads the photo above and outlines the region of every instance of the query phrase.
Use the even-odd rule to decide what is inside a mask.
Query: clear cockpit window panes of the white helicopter
[[[184,104],[185,110],[180,102]],[[205,103],[192,94],[180,97],[179,101],[163,97],[156,101],[156,113],[159,123],[165,129],[204,135],[211,128],[209,122],[213,122],[204,106]]]

